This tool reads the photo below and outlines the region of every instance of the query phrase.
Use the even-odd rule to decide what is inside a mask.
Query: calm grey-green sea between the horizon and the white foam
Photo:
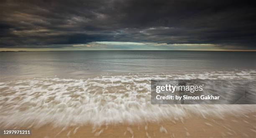
[[[105,74],[175,74],[256,69],[256,52],[49,51],[0,52],[2,79],[87,78]]]

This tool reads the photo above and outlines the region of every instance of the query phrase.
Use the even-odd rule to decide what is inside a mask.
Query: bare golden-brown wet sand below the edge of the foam
[[[27,128],[17,128],[27,129]],[[51,124],[30,128],[30,136],[1,138],[255,138],[256,111],[239,115],[187,116],[183,120],[159,123],[117,124],[93,128],[90,125],[53,128]]]

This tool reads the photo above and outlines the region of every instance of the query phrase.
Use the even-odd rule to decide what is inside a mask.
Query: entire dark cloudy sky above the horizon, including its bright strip
[[[246,0],[1,0],[0,51],[256,51]]]

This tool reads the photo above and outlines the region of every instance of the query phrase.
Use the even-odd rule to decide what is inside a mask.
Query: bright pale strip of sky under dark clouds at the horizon
[[[53,48],[54,47],[54,48]],[[234,51],[246,51],[237,49]],[[226,51],[232,46],[218,44],[166,44],[154,42],[89,42],[86,44],[56,44],[41,48],[0,48],[0,51],[61,51],[61,50],[209,50]],[[231,50],[232,51],[232,50]],[[252,50],[250,50],[252,51]]]

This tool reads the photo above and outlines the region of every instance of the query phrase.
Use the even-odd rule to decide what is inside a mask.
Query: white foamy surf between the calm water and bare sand
[[[256,79],[256,70],[200,74],[130,74],[88,79],[0,82],[0,126],[94,126],[182,120],[256,111],[254,105],[151,105],[151,79]]]

